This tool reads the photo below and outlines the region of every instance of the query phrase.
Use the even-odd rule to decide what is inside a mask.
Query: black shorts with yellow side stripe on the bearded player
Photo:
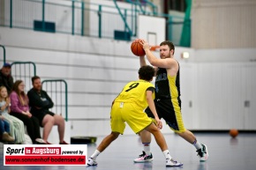
[[[170,129],[175,132],[184,132],[184,123],[181,114],[181,101],[177,99],[154,100],[155,109],[159,119],[164,119]],[[145,110],[148,117],[154,118],[149,107]]]

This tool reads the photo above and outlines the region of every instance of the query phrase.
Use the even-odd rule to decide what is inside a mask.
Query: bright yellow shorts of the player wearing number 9
[[[134,103],[115,102],[111,109],[111,130],[124,134],[125,123],[137,134],[146,129],[153,120]]]

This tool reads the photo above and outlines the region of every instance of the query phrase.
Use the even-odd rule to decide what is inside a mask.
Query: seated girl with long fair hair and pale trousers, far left
[[[9,115],[10,113],[10,98],[8,97],[7,89],[4,86],[0,86],[0,115],[4,116],[4,119],[10,124],[11,137],[15,138],[15,144],[25,143],[25,130],[24,123],[18,118]]]

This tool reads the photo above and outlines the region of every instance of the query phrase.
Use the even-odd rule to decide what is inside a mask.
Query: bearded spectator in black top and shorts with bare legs
[[[67,144],[64,141],[64,118],[49,111],[54,103],[49,98],[47,92],[41,90],[41,78],[35,76],[32,78],[33,88],[27,92],[30,100],[31,113],[38,118],[43,127],[42,139],[47,141],[49,132],[54,125],[57,125],[59,144]],[[47,142],[50,144],[49,142]]]

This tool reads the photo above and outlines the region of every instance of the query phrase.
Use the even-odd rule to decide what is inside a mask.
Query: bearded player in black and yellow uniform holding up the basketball
[[[183,137],[187,142],[194,145],[200,157],[200,161],[208,159],[207,145],[200,144],[191,131],[184,128],[184,123],[181,114],[180,86],[179,86],[179,64],[174,59],[175,47],[170,41],[163,41],[160,44],[160,58],[156,58],[150,51],[150,46],[147,41],[142,41],[141,44],[147,55],[147,60],[154,66],[155,70],[155,100],[154,105],[158,114],[158,118],[163,118],[169,125],[169,128],[174,130],[177,135]],[[139,57],[140,66],[147,65],[145,57]],[[154,118],[150,109],[145,110],[148,117]],[[151,136],[146,131],[140,132],[142,144],[144,144],[144,152],[139,155],[134,162],[145,162],[153,159],[150,152]]]

